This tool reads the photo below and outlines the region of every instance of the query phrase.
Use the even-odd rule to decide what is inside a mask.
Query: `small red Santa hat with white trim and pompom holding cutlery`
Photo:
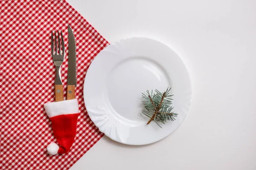
[[[76,136],[76,122],[79,116],[77,99],[46,103],[44,108],[52,122],[53,134],[58,142],[47,146],[48,153],[67,153]]]

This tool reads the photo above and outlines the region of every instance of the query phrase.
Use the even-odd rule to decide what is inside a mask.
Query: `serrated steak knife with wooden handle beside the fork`
[[[67,71],[67,100],[75,99],[76,87],[76,41],[70,25],[68,27],[68,71]]]

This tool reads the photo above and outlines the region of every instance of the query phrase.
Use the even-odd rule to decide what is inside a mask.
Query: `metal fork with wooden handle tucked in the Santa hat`
[[[56,68],[56,78],[55,78],[55,102],[63,101],[63,85],[61,82],[61,65],[64,61],[65,56],[65,47],[64,47],[64,40],[63,35],[61,31],[61,43],[60,43],[60,36],[58,31],[58,49],[57,49],[57,40],[56,40],[56,31],[54,31],[55,34],[55,50],[54,50],[54,42],[53,42],[53,35],[52,35],[52,60],[54,62],[55,68]],[[62,50],[61,50],[62,46]]]

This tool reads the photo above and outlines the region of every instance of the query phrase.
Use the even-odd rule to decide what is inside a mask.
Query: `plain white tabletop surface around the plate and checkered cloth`
[[[166,139],[103,137],[70,170],[256,170],[255,0],[67,0],[109,42],[166,43],[192,78],[192,104]]]

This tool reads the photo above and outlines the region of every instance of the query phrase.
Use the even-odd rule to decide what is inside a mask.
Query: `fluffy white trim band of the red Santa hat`
[[[46,103],[44,108],[49,117],[79,112],[77,99]]]

